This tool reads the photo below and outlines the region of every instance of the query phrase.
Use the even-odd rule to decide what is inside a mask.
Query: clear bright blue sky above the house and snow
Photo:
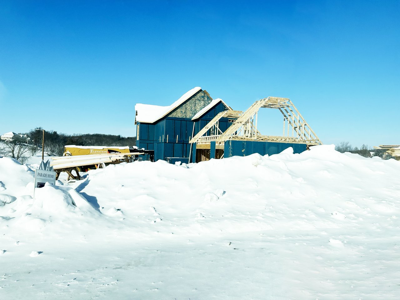
[[[290,98],[324,144],[400,144],[399,83],[400,1],[0,5],[1,133],[134,136],[136,103],[201,86],[235,110]]]

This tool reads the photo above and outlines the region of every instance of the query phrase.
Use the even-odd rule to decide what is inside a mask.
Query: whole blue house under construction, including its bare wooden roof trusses
[[[282,113],[282,136],[258,131],[261,108]],[[243,112],[197,87],[170,106],[136,104],[135,109],[137,146],[154,150],[155,160],[201,162],[253,153],[272,155],[289,147],[300,153],[322,144],[288,98],[263,98]]]

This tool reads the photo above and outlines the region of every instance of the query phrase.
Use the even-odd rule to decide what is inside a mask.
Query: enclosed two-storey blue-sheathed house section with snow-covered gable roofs
[[[189,140],[219,112],[232,108],[196,87],[169,106],[136,104],[135,110],[138,148],[154,150],[154,160],[188,162]],[[230,124],[228,119],[220,120],[222,128],[226,129]]]

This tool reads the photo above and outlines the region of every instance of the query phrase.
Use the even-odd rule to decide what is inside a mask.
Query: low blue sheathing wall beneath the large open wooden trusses
[[[293,153],[301,153],[306,150],[307,145],[295,143],[229,140],[225,142],[224,157],[248,156],[253,153],[272,155],[278,154],[289,147],[293,148]]]

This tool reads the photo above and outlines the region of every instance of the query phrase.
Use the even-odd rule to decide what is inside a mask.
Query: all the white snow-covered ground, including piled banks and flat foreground
[[[0,158],[0,299],[398,299],[399,175],[324,145],[110,165],[33,199]]]

